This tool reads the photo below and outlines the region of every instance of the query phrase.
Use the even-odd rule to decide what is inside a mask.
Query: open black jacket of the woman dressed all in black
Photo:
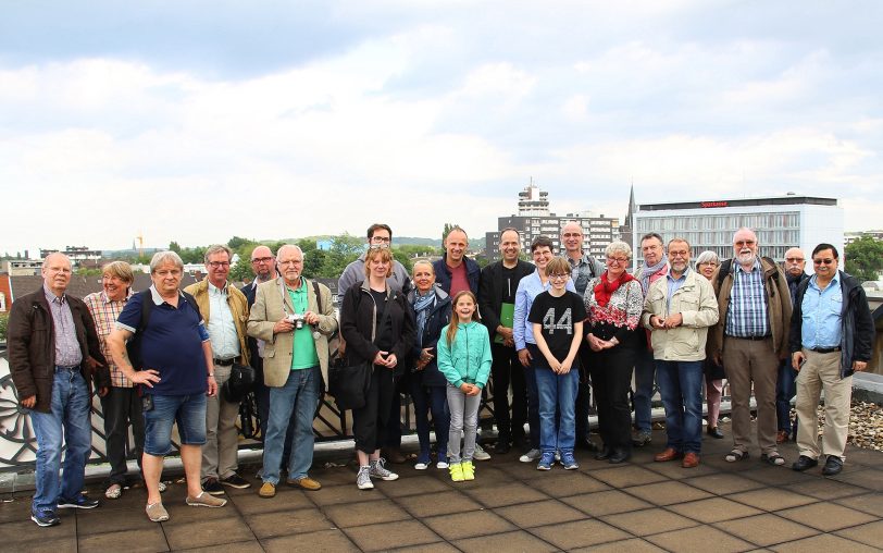
[[[386,286],[386,307],[393,324],[393,347],[396,355],[396,374],[405,373],[408,357],[414,344],[414,320],[408,308],[403,294]],[[368,287],[368,281],[359,286],[350,286],[340,304],[340,334],[347,343],[346,356],[349,365],[362,361],[372,362],[380,348],[374,345],[372,334],[375,332],[374,296]]]

